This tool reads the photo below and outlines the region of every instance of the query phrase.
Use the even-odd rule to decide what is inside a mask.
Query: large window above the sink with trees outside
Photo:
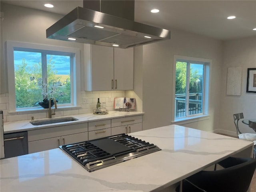
[[[7,42],[7,50],[10,111],[41,109],[50,97],[58,107],[78,105],[79,50],[20,42]]]

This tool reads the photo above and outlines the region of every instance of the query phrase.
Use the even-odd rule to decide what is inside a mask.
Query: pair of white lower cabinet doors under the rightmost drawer
[[[137,131],[142,131],[142,123],[136,123],[136,124],[130,124],[130,125],[124,125],[119,127],[112,127],[111,128],[111,134],[117,135],[121,133],[133,133]]]

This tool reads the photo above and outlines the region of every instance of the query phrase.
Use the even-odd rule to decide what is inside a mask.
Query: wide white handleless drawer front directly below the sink
[[[36,141],[47,138],[54,138],[64,135],[82,133],[88,131],[88,123],[56,126],[28,131],[28,141]]]

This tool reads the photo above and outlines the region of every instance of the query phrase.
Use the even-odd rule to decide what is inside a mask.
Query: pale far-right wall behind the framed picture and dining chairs
[[[228,67],[242,67],[241,96],[226,95]],[[256,118],[256,93],[246,93],[247,68],[256,68],[256,37],[224,42],[219,128],[226,134],[236,136],[233,114],[243,112],[244,118]],[[255,133],[242,122],[239,128],[241,132]]]

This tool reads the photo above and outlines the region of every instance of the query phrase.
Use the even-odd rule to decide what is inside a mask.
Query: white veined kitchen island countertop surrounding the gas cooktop
[[[0,191],[162,191],[228,156],[252,156],[253,150],[252,142],[178,125],[130,135],[162,150],[94,172],[87,172],[61,149],[3,159]]]

